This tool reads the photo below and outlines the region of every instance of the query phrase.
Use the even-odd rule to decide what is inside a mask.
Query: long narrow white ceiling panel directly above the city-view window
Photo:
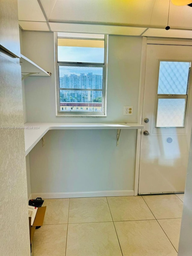
[[[71,23],[52,23],[49,22],[52,31],[57,32],[75,32],[75,33],[95,33],[109,35],[140,35],[146,28],[134,28],[125,26],[107,26],[107,25],[86,25]]]

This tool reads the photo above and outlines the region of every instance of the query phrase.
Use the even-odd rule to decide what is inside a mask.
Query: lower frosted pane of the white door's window
[[[185,99],[159,99],[157,127],[183,127]]]

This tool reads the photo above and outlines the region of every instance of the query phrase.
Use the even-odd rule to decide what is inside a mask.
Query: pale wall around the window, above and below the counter
[[[109,36],[107,117],[55,115],[54,35],[22,32],[23,52],[51,77],[25,80],[27,122],[137,122],[142,38]],[[123,116],[133,105],[134,115]],[[133,190],[136,130],[49,131],[30,152],[32,193]]]

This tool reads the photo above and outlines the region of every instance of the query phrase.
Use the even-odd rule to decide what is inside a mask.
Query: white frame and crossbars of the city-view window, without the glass
[[[100,38],[77,38],[77,37],[58,37],[57,32],[55,32],[55,69],[56,69],[56,100],[57,100],[57,111],[56,116],[66,116],[66,117],[106,117],[107,116],[107,53],[108,53],[108,35],[104,36],[104,63],[78,63],[78,62],[60,62],[58,61],[58,51],[57,42],[58,38],[67,39],[85,39],[85,40],[102,40]],[[91,112],[91,111],[61,111],[60,110],[60,90],[59,88],[59,66],[77,66],[77,67],[102,67],[103,68],[103,84],[102,89],[69,89],[68,90],[83,90],[83,91],[102,91],[102,112]],[[62,89],[63,90],[63,89]]]

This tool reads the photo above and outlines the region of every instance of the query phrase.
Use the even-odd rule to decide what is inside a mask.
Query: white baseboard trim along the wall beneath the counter
[[[134,196],[134,190],[32,193],[31,195],[32,195],[32,198],[41,197],[43,199],[75,198],[75,197],[118,197],[118,196]]]

